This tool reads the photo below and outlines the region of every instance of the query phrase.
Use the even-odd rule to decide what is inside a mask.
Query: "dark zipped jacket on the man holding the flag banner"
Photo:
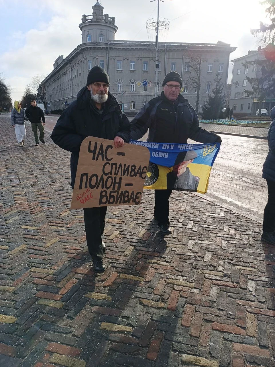
[[[190,138],[200,143],[221,142],[221,138],[199,127],[198,115],[183,95],[169,101],[162,91],[151,99],[131,121],[131,139],[138,140],[149,129],[147,141],[186,144]]]

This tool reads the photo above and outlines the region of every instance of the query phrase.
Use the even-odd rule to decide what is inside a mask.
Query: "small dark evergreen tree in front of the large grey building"
[[[224,105],[223,84],[221,83],[222,76],[216,73],[214,79],[215,87],[212,95],[208,94],[208,99],[202,105],[202,118],[205,120],[218,119],[221,115],[221,109]]]

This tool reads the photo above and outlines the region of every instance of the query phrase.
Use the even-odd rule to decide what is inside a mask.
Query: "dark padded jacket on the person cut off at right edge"
[[[271,109],[270,117],[273,121],[267,133],[269,152],[263,166],[263,178],[275,181],[275,107]]]

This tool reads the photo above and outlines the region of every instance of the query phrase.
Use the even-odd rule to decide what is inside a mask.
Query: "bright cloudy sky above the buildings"
[[[66,57],[81,43],[78,28],[83,14],[92,14],[96,0],[0,0],[0,73],[21,99],[34,75],[48,75],[58,55]],[[148,40],[146,21],[157,17],[157,1],[101,0],[104,13],[115,17],[117,40]],[[159,16],[170,21],[161,41],[208,42],[218,40],[238,47],[234,59],[257,50],[250,34],[265,21],[258,0],[165,0]]]

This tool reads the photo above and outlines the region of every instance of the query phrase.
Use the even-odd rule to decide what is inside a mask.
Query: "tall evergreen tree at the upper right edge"
[[[243,66],[256,65],[258,70],[258,77],[246,78],[252,90],[245,90],[248,97],[259,98],[258,116],[261,116],[263,100],[275,96],[275,0],[265,0],[262,4],[268,6],[265,12],[270,24],[260,22],[260,28],[251,30],[253,36],[261,37],[261,47],[258,49],[261,50],[261,58],[243,63]]]

